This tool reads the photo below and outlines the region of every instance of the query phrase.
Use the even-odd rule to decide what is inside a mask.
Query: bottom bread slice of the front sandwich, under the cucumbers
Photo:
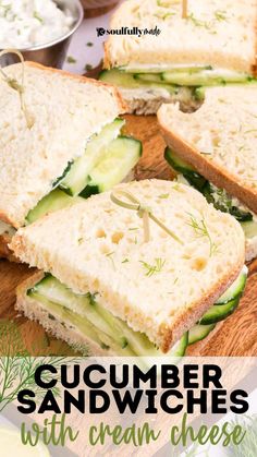
[[[49,334],[58,339],[66,341],[71,347],[81,349],[87,356],[114,356],[110,350],[101,349],[100,346],[89,340],[77,328],[73,327],[69,321],[62,318],[60,321],[54,312],[44,308],[38,301],[32,299],[26,294],[27,289],[32,288],[44,277],[42,273],[36,273],[27,280],[23,281],[16,289],[17,300],[15,310],[23,313],[30,321],[38,322]],[[52,320],[52,315],[56,320]]]

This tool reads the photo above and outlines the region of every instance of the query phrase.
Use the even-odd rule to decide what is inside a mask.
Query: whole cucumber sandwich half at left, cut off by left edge
[[[22,87],[29,125],[13,83]],[[15,230],[123,181],[142,154],[114,87],[27,62],[0,77],[0,256]],[[7,84],[7,82],[9,82]]]

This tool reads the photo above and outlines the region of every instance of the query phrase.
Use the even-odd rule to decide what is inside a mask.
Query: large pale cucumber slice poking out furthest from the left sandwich
[[[88,187],[81,196],[108,191],[128,175],[142,156],[142,143],[137,140],[119,136],[106,149],[106,157],[93,169]]]

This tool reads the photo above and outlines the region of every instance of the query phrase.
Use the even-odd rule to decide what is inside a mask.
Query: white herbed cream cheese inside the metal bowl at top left
[[[28,49],[56,40],[74,25],[69,9],[53,0],[1,0],[0,48]]]

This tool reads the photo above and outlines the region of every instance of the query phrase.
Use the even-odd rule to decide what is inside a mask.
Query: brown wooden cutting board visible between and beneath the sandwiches
[[[136,179],[171,179],[172,171],[163,159],[164,142],[158,132],[156,118],[126,116],[126,134],[143,142],[143,158],[136,168]],[[15,288],[33,270],[25,265],[0,261],[0,318],[13,320],[24,347],[32,354],[73,354],[60,340],[47,335],[37,323],[19,316],[14,311]],[[0,335],[0,354],[1,354]],[[199,356],[257,356],[257,261],[249,265],[245,294],[232,316],[218,326],[213,336],[189,350]]]

